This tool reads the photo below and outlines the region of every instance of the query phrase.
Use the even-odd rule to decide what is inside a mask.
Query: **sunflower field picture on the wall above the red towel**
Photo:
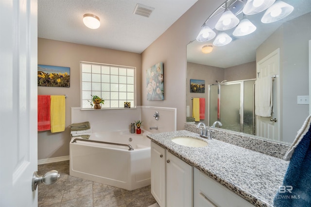
[[[38,86],[70,87],[70,67],[38,64]]]

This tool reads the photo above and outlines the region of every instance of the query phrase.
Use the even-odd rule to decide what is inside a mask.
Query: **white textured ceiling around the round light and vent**
[[[197,0],[38,0],[38,37],[141,53]],[[155,8],[149,17],[133,14],[136,4]],[[101,19],[87,28],[83,15]]]

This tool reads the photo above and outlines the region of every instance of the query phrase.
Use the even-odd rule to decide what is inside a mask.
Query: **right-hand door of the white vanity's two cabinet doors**
[[[192,207],[192,167],[166,152],[166,206]]]

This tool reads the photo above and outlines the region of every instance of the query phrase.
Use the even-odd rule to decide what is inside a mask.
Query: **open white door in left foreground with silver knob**
[[[37,1],[0,0],[0,206],[36,207]]]

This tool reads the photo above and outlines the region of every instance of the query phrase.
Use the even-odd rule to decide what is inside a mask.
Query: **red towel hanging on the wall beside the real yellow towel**
[[[51,96],[38,95],[38,131],[51,129]]]

